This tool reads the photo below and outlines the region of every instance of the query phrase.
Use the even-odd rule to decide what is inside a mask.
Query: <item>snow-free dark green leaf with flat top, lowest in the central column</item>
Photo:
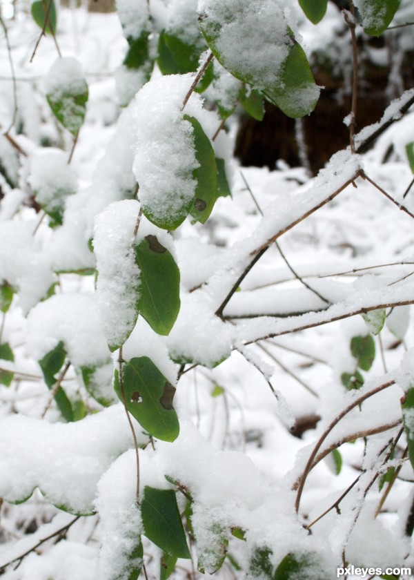
[[[144,534],[150,541],[172,556],[191,558],[173,490],[157,490],[147,485],[141,516]]]

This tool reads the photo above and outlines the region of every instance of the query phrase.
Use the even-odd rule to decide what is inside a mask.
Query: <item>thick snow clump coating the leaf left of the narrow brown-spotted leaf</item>
[[[195,194],[193,170],[199,164],[193,126],[181,111],[190,85],[190,74],[152,79],[141,88],[133,105],[137,138],[133,171],[139,183],[139,200],[144,212],[161,222],[167,216],[179,218]],[[166,98],[160,101],[160,94]],[[199,101],[195,95],[190,99],[187,115],[194,115],[196,99]]]

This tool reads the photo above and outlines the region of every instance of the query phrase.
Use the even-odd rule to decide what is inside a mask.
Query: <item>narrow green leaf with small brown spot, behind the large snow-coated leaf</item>
[[[213,145],[208,139],[203,128],[195,119],[184,115],[184,119],[193,125],[195,146],[195,158],[199,167],[193,171],[193,177],[197,181],[193,204],[190,214],[197,222],[204,224],[213,210],[217,200],[217,165]]]

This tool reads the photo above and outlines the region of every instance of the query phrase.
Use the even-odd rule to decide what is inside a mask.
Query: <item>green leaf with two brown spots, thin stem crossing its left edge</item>
[[[128,411],[141,427],[163,441],[175,441],[179,435],[177,413],[172,406],[175,387],[147,356],[132,358],[123,366],[123,387]],[[115,392],[124,402],[115,371]]]

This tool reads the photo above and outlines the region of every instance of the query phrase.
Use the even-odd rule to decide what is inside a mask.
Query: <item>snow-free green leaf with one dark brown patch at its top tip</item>
[[[139,313],[158,334],[167,335],[179,313],[179,269],[170,252],[155,235],[146,235],[135,246],[141,271]]]

